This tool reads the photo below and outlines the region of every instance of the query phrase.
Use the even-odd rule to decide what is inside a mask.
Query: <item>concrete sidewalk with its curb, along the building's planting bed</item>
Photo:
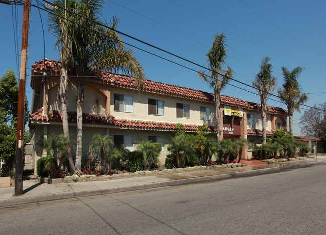
[[[184,183],[200,182],[206,180],[222,179],[233,176],[266,173],[281,169],[305,167],[314,164],[326,163],[326,157],[315,161],[307,160],[290,161],[275,164],[249,165],[225,169],[203,169],[187,172],[167,171],[155,176],[140,176],[115,180],[72,182],[47,184],[39,183],[37,179],[24,180],[23,195],[15,196],[14,187],[0,188],[0,208],[28,203],[39,203],[59,199],[68,199],[81,196],[100,195],[114,192],[123,192],[139,189],[148,189],[161,186],[172,186]]]

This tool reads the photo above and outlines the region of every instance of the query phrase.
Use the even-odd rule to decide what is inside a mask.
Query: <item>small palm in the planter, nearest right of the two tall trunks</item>
[[[100,152],[102,170],[105,172],[107,161],[105,161],[105,156],[109,154],[112,146],[114,146],[112,137],[109,135],[93,135],[92,142],[89,144],[91,151]]]

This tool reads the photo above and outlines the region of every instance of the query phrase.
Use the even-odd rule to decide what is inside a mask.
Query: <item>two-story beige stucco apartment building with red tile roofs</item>
[[[46,73],[46,74],[44,74]],[[44,76],[46,75],[46,76]],[[76,77],[69,76],[68,111],[69,131],[76,138],[76,95],[71,84]],[[30,131],[32,141],[50,133],[62,133],[59,101],[60,62],[42,60],[32,66],[33,88]],[[247,138],[250,146],[261,143],[262,124],[260,105],[221,95],[223,138]],[[168,154],[167,140],[182,123],[187,132],[195,133],[199,126],[210,127],[216,136],[213,94],[185,87],[145,80],[142,94],[138,94],[135,81],[127,75],[104,73],[85,81],[83,103],[83,155],[95,133],[112,136],[115,144],[134,150],[134,141],[140,138],[162,145],[160,161]],[[286,130],[287,111],[268,107],[267,135],[276,128]],[[44,155],[35,146],[35,160]],[[247,158],[244,151],[243,158]]]

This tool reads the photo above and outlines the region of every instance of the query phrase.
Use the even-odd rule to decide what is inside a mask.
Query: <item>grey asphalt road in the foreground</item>
[[[325,234],[326,164],[0,209],[0,234]]]

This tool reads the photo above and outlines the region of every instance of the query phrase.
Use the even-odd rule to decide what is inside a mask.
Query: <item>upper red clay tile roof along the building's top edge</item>
[[[55,60],[42,60],[39,62],[35,62],[34,65],[32,65],[32,68],[34,70],[45,70],[49,72],[58,72],[59,71],[59,65],[60,62]],[[137,85],[135,80],[128,75],[123,74],[114,74],[114,73],[102,73],[100,76],[97,77],[97,79],[110,83],[113,86],[117,87],[123,87],[123,88],[132,88],[136,89]],[[33,81],[33,76],[32,76]],[[31,84],[32,84],[31,81]],[[180,87],[176,85],[161,83],[161,82],[154,82],[148,79],[145,79],[144,82],[144,91],[147,92],[155,92],[160,94],[166,94],[166,95],[172,95],[172,96],[179,96],[179,97],[185,97],[189,99],[195,99],[195,100],[201,100],[201,101],[210,101],[213,102],[214,96],[211,93],[203,92],[200,90],[194,90],[191,88],[186,87]],[[223,105],[230,105],[240,108],[245,108],[249,110],[255,110],[260,109],[260,105],[253,102],[244,101],[238,98],[221,95],[221,104]],[[269,113],[277,113],[277,114],[283,114],[287,115],[287,111],[282,108],[268,106],[268,112]]]

